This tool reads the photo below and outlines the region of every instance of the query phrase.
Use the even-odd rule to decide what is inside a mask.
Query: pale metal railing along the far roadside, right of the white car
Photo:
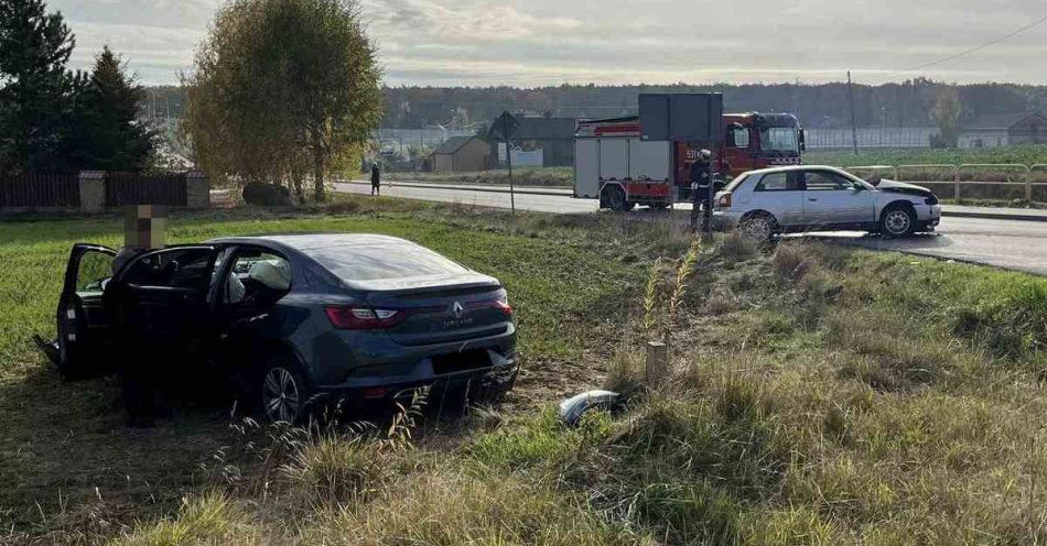
[[[889,173],[894,179],[920,182],[945,187],[956,203],[968,199],[1006,200],[1032,207],[1047,203],[1047,164],[963,163],[916,165],[861,165],[842,167],[855,175]],[[1043,173],[1041,177],[1036,175]],[[970,188],[981,188],[981,195],[970,195]],[[964,190],[968,195],[964,195]],[[1043,194],[1043,195],[1040,195]]]

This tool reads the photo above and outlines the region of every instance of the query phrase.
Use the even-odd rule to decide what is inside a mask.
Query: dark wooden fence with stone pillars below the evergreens
[[[0,212],[75,209],[99,212],[123,205],[207,208],[211,187],[199,173],[28,173],[0,175]]]

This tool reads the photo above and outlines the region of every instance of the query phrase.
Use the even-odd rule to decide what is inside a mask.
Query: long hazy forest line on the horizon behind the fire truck
[[[935,107],[945,92],[956,91],[960,125],[985,113],[1047,110],[1047,87],[1015,84],[950,85],[915,78],[884,85],[854,85],[859,127],[936,127]],[[733,111],[790,112],[808,128],[851,125],[845,83],[714,84],[667,86],[562,85],[514,87],[392,87],[385,89],[384,128],[485,123],[504,110],[550,116],[604,118],[632,114],[641,92],[722,92]]]

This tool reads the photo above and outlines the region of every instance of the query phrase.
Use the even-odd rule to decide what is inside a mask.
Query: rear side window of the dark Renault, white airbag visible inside
[[[274,303],[291,290],[291,264],[283,256],[261,249],[237,251],[226,279],[224,302],[259,306]]]

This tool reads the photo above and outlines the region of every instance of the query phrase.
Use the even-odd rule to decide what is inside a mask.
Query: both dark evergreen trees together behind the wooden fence
[[[67,67],[75,37],[43,0],[0,0],[0,173],[148,167],[144,90],[108,46]]]

